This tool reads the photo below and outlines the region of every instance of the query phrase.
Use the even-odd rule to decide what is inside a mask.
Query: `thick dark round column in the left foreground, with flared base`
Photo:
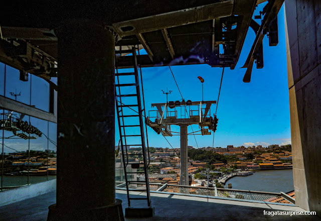
[[[48,220],[119,220],[115,216],[122,211],[110,210],[115,205],[114,36],[87,20],[63,25],[57,36],[57,202]]]

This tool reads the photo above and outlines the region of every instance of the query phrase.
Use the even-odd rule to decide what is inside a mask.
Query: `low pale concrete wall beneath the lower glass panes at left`
[[[0,206],[8,205],[14,202],[19,202],[55,190],[55,179],[20,188],[5,190],[0,192]]]

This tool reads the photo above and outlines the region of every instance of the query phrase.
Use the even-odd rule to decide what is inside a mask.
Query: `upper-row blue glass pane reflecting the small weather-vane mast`
[[[6,65],[6,97],[30,104],[30,74],[28,75],[28,81],[19,80],[19,70]]]

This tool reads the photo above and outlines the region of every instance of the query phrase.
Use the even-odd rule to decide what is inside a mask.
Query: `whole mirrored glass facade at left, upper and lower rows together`
[[[49,83],[31,74],[23,81],[3,63],[0,96],[49,112]],[[0,108],[1,191],[56,179],[56,151],[56,123]]]

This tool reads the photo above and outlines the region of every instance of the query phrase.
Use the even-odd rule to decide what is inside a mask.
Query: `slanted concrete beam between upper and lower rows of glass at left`
[[[50,121],[57,123],[57,112],[51,114],[48,112],[41,111],[30,105],[18,102],[16,100],[10,99],[0,95],[0,108],[8,109],[9,111],[18,112],[20,114],[25,114],[31,117],[39,118],[45,121]]]

